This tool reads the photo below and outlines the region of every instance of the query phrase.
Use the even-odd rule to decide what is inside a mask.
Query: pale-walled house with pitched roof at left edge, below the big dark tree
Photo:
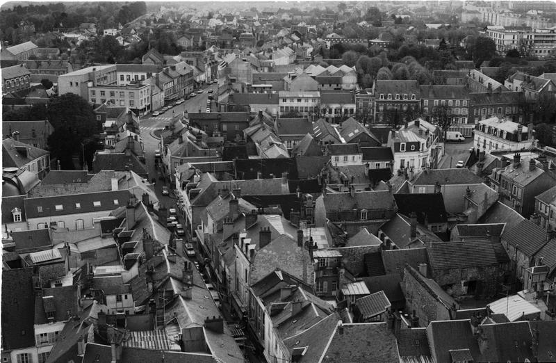
[[[25,169],[43,179],[50,171],[50,153],[17,140],[19,131],[13,131],[16,138],[2,140],[3,168]]]

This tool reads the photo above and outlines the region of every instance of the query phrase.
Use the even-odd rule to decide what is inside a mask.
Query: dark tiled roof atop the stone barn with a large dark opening
[[[495,251],[493,243],[488,240],[431,243],[427,250],[430,265],[435,270],[498,266],[509,262],[507,254],[500,254],[500,250]]]

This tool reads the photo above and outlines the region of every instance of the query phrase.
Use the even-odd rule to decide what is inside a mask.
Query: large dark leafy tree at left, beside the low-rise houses
[[[49,101],[47,116],[54,127],[48,141],[50,153],[63,169],[72,170],[72,156],[79,152],[83,140],[99,131],[95,114],[85,99],[66,93]]]

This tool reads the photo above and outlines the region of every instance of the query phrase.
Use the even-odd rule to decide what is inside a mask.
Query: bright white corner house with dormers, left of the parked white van
[[[442,152],[439,148],[439,127],[422,119],[404,124],[388,136],[388,146],[394,156],[394,170],[423,170],[437,168]]]

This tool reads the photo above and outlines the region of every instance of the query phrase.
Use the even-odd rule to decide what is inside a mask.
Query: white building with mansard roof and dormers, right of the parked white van
[[[475,147],[490,153],[496,150],[528,150],[535,145],[533,129],[505,118],[487,118],[475,127]]]

